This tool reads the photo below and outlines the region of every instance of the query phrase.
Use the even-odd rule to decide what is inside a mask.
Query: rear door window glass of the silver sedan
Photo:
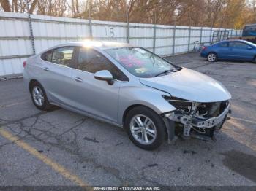
[[[51,62],[71,66],[74,47],[60,47],[53,50]]]

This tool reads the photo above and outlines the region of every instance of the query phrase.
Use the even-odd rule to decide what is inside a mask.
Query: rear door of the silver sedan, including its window
[[[42,55],[42,83],[50,101],[69,105],[75,47],[59,47]]]

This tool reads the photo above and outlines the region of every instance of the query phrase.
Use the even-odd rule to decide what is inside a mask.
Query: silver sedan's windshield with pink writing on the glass
[[[171,63],[143,48],[123,47],[105,51],[136,77],[155,77],[176,69]]]

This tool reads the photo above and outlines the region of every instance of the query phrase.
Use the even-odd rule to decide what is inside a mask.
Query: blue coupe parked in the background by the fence
[[[201,56],[209,62],[217,60],[256,62],[256,44],[244,40],[225,40],[203,46]]]

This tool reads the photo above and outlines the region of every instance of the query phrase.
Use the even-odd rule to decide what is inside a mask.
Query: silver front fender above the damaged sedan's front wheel
[[[170,94],[151,87],[121,87],[119,92],[118,123],[122,124],[124,112],[129,106],[143,105],[154,110],[157,114],[171,112],[176,108],[170,105],[162,95]]]

